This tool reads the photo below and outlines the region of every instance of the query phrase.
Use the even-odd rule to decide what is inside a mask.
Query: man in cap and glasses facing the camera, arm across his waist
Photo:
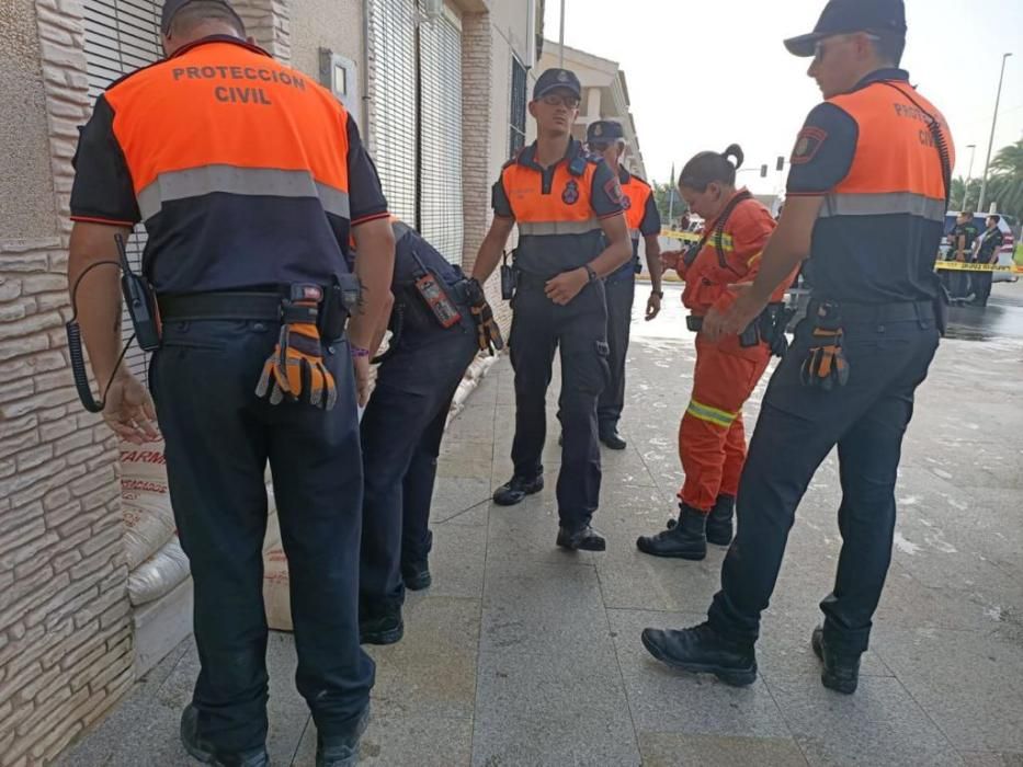
[[[609,375],[601,277],[625,264],[632,248],[618,180],[571,135],[580,92],[579,79],[567,69],[548,69],[536,81],[530,114],[537,139],[504,165],[493,186],[493,224],[473,276],[484,283],[493,273],[518,224],[518,287],[509,339],[515,369],[515,469],[493,500],[513,505],[543,490],[545,400],[560,346],[564,444],[557,543],[603,551],[605,541],[590,525],[601,483],[596,399]]]

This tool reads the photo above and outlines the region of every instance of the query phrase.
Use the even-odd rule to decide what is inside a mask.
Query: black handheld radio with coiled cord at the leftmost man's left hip
[[[78,399],[82,407],[90,413],[100,413],[106,405],[106,392],[110,391],[111,384],[117,375],[117,368],[121,366],[124,355],[127,354],[132,341],[138,341],[139,347],[144,352],[155,352],[160,347],[160,318],[157,310],[156,296],[152,288],[146,279],[132,271],[128,263],[128,253],[125,249],[124,237],[114,236],[114,242],[117,245],[118,261],[98,261],[91,264],[86,271],[78,275],[75,285],[71,287],[71,319],[65,329],[68,334],[68,355],[71,357],[71,374],[75,376],[75,388],[78,389]],[[103,397],[96,402],[92,397],[92,390],[89,388],[89,373],[86,369],[86,355],[82,351],[81,328],[78,324],[78,286],[82,278],[96,266],[117,266],[121,268],[121,293],[132,318],[134,333],[121,350],[117,363],[114,365],[114,371],[103,388]]]

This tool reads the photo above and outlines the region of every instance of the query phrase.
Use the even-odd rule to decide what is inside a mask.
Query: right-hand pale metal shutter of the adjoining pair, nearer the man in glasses
[[[419,229],[462,263],[462,32],[446,16],[419,27]]]

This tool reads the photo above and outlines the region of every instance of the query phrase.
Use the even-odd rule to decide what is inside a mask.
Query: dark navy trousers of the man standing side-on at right
[[[811,305],[810,316],[814,316]],[[872,617],[891,561],[895,482],[913,393],[927,378],[939,331],[930,304],[882,307],[845,321],[846,386],[830,392],[799,382],[811,344],[804,320],[771,378],[739,483],[738,534],[709,611],[727,637],[755,641],[777,581],[796,507],[820,462],[838,446],[842,534],[834,586],[820,607],[831,646],[867,649]],[[890,321],[889,316],[914,319]]]

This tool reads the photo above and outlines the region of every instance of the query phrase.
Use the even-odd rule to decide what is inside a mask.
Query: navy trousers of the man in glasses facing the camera
[[[520,286],[512,304],[511,363],[515,370],[515,476],[543,473],[546,399],[555,352],[561,351],[561,471],[558,516],[564,527],[588,525],[600,505],[601,462],[596,400],[607,384],[607,309],[604,285],[587,285],[568,306],[544,295],[542,284]]]

